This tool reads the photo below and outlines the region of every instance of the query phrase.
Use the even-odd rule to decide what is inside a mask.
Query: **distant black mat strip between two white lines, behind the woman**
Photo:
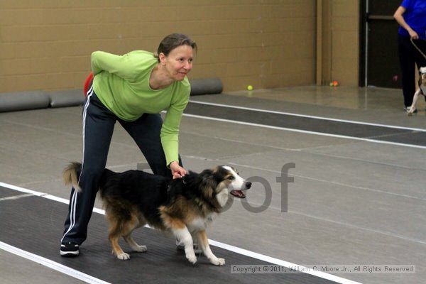
[[[378,141],[426,146],[425,131],[421,132],[408,129],[371,126],[366,124],[315,119],[293,116],[290,114],[275,114],[249,109],[235,109],[231,107],[220,107],[191,102],[185,109],[185,114],[209,116],[217,119],[229,119],[302,131],[314,131],[356,138],[370,138]]]

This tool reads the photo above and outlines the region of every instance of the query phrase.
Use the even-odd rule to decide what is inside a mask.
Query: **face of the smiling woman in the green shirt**
[[[163,53],[160,53],[163,55]],[[165,70],[171,79],[182,81],[192,69],[192,47],[180,45],[170,51],[168,56],[160,56],[160,62],[165,65]]]

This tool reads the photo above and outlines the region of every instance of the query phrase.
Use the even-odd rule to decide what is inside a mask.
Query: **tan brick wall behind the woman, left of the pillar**
[[[199,46],[190,77],[225,91],[315,83],[315,0],[2,0],[0,92],[77,89],[94,50]]]

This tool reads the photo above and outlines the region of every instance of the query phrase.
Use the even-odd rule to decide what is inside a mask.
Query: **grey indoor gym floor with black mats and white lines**
[[[201,256],[192,267],[173,238],[148,228],[135,238],[148,253],[118,261],[99,210],[81,256],[60,258],[63,202],[70,194],[61,175],[69,161],[81,160],[82,107],[39,109],[0,114],[1,283],[424,282],[423,100],[413,117],[403,113],[400,91],[391,89],[292,87],[191,100],[180,134],[185,168],[229,164],[268,183],[254,182],[246,204],[234,200],[207,231],[226,266],[210,266]],[[117,124],[107,166],[123,171],[143,161]],[[295,163],[288,171],[294,182],[285,202],[277,178],[288,163]],[[95,207],[102,208],[99,200]],[[231,273],[234,265],[285,262],[413,265],[415,273]]]

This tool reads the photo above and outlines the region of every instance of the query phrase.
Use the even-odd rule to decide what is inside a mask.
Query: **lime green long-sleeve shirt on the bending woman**
[[[149,78],[158,60],[153,53],[143,50],[125,55],[95,51],[91,61],[94,92],[120,119],[135,121],[142,114],[167,111],[161,128],[161,144],[167,165],[178,160],[180,120],[191,89],[187,77],[164,89],[151,89]]]

